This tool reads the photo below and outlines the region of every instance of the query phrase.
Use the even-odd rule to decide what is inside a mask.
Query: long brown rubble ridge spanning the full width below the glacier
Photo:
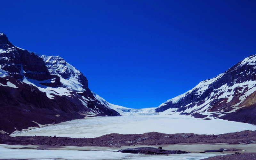
[[[1,135],[0,135],[1,136]],[[68,138],[56,136],[2,136],[0,144],[10,145],[49,145],[49,146],[100,146],[120,148],[135,145],[162,145],[178,143],[256,143],[256,131],[242,131],[218,135],[193,133],[164,134],[149,132],[144,134],[107,134],[96,138]]]

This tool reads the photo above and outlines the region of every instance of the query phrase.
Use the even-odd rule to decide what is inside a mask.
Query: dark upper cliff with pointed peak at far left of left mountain
[[[45,83],[48,86],[61,86],[60,77],[51,75],[45,66],[42,58],[36,56],[33,52],[22,50],[12,45],[6,35],[0,34],[0,65],[1,69],[10,72],[10,76],[23,80],[25,76],[28,79],[44,81],[53,79],[53,84]]]

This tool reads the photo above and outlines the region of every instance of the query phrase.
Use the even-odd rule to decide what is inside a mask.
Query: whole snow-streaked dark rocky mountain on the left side
[[[61,57],[23,50],[0,32],[1,133],[85,116],[120,116],[95,95],[86,77]]]

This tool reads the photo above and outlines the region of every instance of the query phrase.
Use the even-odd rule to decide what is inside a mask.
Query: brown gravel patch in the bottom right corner
[[[243,153],[243,154],[233,154],[233,155],[223,155],[223,156],[214,156],[201,160],[255,160],[256,153]]]

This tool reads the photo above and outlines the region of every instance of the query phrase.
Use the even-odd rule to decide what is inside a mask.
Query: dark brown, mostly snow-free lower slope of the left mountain
[[[21,83],[11,76],[0,77],[1,84],[7,85],[7,82],[17,87],[0,86],[0,130],[9,134],[16,129],[38,126],[34,122],[56,124],[84,118],[85,115],[80,115],[78,112],[91,111],[85,108],[80,100],[68,96],[49,99],[46,93],[33,85]]]

